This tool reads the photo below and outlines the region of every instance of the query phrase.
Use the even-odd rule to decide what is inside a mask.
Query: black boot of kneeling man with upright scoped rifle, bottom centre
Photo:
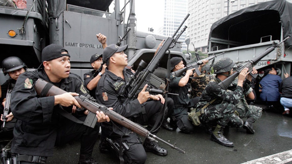
[[[158,156],[166,156],[167,150],[159,146],[157,142],[151,141],[148,138],[145,139],[143,147],[145,151],[152,152]]]

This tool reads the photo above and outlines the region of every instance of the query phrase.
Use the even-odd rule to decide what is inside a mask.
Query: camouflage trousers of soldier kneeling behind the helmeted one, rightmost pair
[[[236,110],[230,119],[231,127],[242,127],[243,121],[242,118],[250,118],[252,117],[253,121],[261,118],[262,116],[262,108],[248,105],[245,99],[241,99],[238,104],[236,104]]]

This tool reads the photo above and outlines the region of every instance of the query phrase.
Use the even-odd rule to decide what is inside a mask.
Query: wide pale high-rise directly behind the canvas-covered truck
[[[242,8],[271,0],[188,0],[188,29],[190,50],[207,52],[208,37],[212,24]],[[292,0],[287,0],[292,2]]]

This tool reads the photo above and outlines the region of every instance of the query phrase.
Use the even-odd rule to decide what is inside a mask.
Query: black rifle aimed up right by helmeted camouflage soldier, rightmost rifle
[[[255,66],[261,59],[263,59],[263,57],[265,57],[266,55],[268,55],[276,47],[278,47],[280,44],[282,44],[285,40],[287,40],[289,38],[290,37],[288,36],[287,38],[285,38],[284,40],[282,40],[279,44],[273,42],[273,45],[271,47],[269,47],[266,50],[264,50],[262,53],[260,53],[256,57],[254,57],[252,60],[245,61],[241,65],[239,65],[237,67],[237,70],[235,72],[233,72],[233,74],[231,76],[227,77],[222,82],[219,82],[218,85],[222,89],[226,90],[230,86],[230,84],[233,82],[233,80],[239,75],[239,72],[241,72],[244,68],[249,68],[249,71],[251,71],[252,70],[252,67]]]

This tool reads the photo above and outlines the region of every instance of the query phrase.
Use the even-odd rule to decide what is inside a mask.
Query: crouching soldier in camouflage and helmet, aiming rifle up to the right
[[[244,68],[240,72],[237,87],[233,92],[223,90],[218,83],[232,75],[232,67],[234,65],[235,63],[230,58],[221,58],[214,64],[216,79],[210,81],[204,89],[196,106],[196,111],[191,111],[200,112],[199,119],[203,123],[216,121],[217,125],[211,134],[211,140],[228,147],[233,147],[234,144],[225,138],[223,130],[230,121],[232,114],[236,110],[236,104],[243,95],[243,81],[249,73],[248,68]]]

